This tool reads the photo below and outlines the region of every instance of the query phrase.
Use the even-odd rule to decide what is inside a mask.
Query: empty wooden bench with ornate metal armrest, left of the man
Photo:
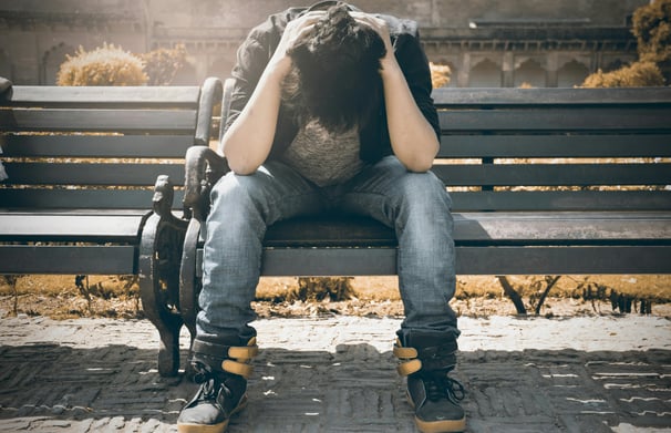
[[[140,267],[141,235],[161,250],[163,225],[186,223],[152,217],[154,183],[169,175],[183,185],[184,154],[208,144],[221,82],[4,87],[0,148],[9,177],[0,182],[0,274],[155,272]],[[158,295],[142,290],[144,311],[159,329],[166,318],[180,326],[165,312],[177,305],[176,271],[165,286]]]

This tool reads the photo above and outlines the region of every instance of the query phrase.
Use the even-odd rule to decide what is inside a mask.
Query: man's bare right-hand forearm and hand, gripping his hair
[[[392,151],[412,172],[426,172],[438,152],[440,143],[407,86],[403,71],[396,61],[386,22],[380,18],[354,12],[359,21],[373,28],[386,47],[381,60],[384,103]]]

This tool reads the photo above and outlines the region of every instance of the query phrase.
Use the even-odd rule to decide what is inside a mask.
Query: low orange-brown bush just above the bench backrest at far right
[[[598,72],[585,79],[581,87],[644,87],[664,85],[659,66],[652,62],[636,62],[612,72]]]

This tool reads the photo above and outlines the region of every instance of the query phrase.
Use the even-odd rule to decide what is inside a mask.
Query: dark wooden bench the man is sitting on
[[[230,81],[224,86],[226,117]],[[451,192],[460,275],[671,274],[671,89],[440,89],[433,171]],[[192,218],[179,311],[195,334],[200,226],[223,158],[186,158]],[[396,274],[393,231],[368,218],[269,227],[264,276]],[[173,347],[175,368],[178,347]],[[169,351],[169,349],[166,349]]]

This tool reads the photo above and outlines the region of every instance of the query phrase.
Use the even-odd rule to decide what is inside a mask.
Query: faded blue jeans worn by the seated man
[[[259,282],[266,227],[285,218],[329,210],[367,215],[395,229],[405,319],[401,331],[456,339],[451,199],[431,172],[411,173],[395,156],[351,181],[320,188],[289,166],[269,162],[249,176],[228,173],[211,192],[205,225],[199,338],[256,334],[250,302]]]

